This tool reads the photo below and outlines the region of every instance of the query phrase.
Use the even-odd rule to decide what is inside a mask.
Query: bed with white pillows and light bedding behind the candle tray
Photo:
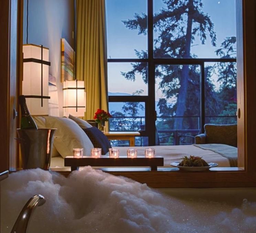
[[[63,168],[64,158],[73,154],[73,148],[84,148],[84,155],[90,155],[90,149],[94,145],[83,127],[92,127],[86,121],[54,116],[40,116],[34,118],[39,128],[56,128],[56,138],[53,142],[51,168]],[[107,140],[107,138],[106,138]],[[108,142],[108,140],[107,140]],[[109,143],[109,142],[108,142]],[[156,150],[156,155],[164,158],[164,167],[170,167],[170,163],[181,161],[183,156],[201,156],[210,163],[217,163],[219,167],[237,167],[237,148],[223,144],[196,144],[179,146],[150,146]],[[108,147],[109,148],[109,147]],[[127,154],[127,148],[120,149],[120,155]],[[138,155],[144,155],[147,147],[136,147]],[[108,149],[106,150],[106,152]],[[108,156],[108,152],[106,154]]]

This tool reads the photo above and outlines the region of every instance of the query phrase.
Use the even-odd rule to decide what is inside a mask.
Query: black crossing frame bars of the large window
[[[150,93],[155,92],[155,67],[157,65],[200,65],[200,133],[204,133],[205,124],[205,77],[204,63],[206,62],[236,62],[236,58],[154,58],[154,43],[153,43],[153,0],[147,0],[147,15],[148,15],[148,58],[110,58],[108,63],[132,63],[143,62],[148,64],[148,95],[147,96],[108,96],[108,102],[145,102],[145,131],[141,131],[141,136],[148,136],[149,146],[155,145],[156,133],[152,129],[155,125],[156,109],[155,96]]]

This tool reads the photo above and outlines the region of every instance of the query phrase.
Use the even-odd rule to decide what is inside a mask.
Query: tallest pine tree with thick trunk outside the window
[[[166,7],[154,14],[154,31],[158,37],[154,39],[155,58],[192,58],[191,44],[198,36],[202,44],[205,43],[206,34],[209,32],[211,43],[216,46],[214,25],[210,16],[202,11],[202,0],[163,0]],[[126,27],[138,30],[139,34],[147,33],[147,16],[135,14],[134,19],[124,21]],[[146,51],[135,51],[138,58],[146,58]],[[147,67],[143,63],[132,64],[132,70],[122,75],[128,80],[135,80],[135,73],[142,75],[143,81],[148,82]],[[182,116],[194,113],[189,106],[195,106],[199,99],[195,96],[191,102],[189,90],[195,88],[199,73],[195,66],[157,66],[156,78],[160,78],[159,88],[165,95],[165,99],[177,98],[177,102],[170,109],[171,115],[181,116],[176,118],[174,129],[182,129]],[[198,89],[199,90],[199,89]],[[198,94],[197,94],[198,95]],[[164,109],[162,100],[159,101],[161,109]],[[167,102],[166,108],[168,109]],[[191,112],[192,111],[192,112]],[[160,112],[162,113],[162,112]]]

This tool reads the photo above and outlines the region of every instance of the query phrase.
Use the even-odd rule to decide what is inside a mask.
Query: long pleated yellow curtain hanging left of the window
[[[85,119],[108,111],[105,0],[76,0],[76,78],[84,80]]]

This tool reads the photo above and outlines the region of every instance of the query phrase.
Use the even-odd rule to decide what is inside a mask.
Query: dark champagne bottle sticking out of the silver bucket
[[[25,96],[19,96],[20,108],[21,108],[21,129],[38,129],[34,119],[29,113],[28,107],[26,106]]]

